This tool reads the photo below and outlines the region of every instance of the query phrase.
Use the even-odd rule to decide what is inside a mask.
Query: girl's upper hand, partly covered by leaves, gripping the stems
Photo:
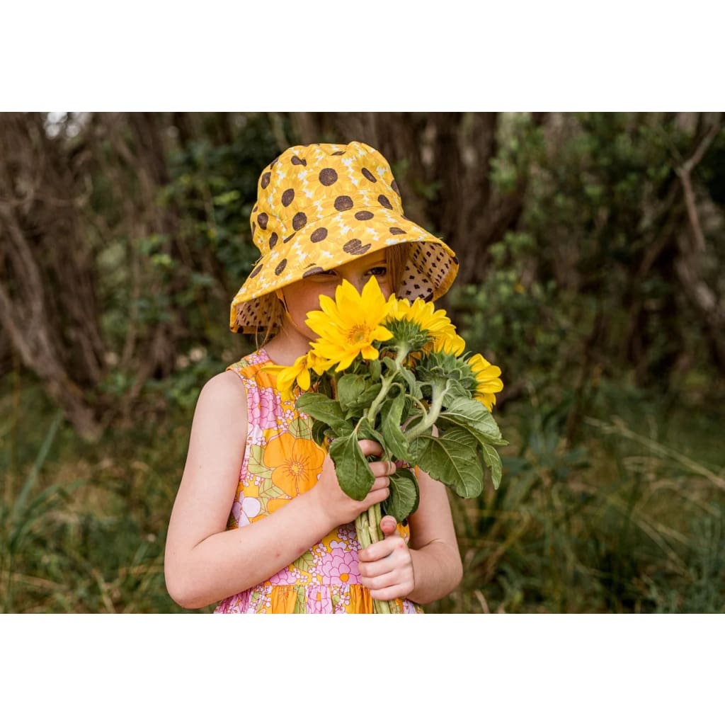
[[[376,441],[365,440],[360,441],[359,444],[364,456],[376,456],[383,453],[381,445]],[[307,495],[318,497],[320,509],[328,517],[330,529],[334,529],[342,523],[355,521],[357,515],[367,511],[373,504],[386,500],[389,496],[389,476],[394,473],[395,464],[386,460],[378,460],[368,465],[370,465],[370,471],[373,471],[375,481],[368,495],[362,501],[356,501],[340,488],[335,473],[335,464],[329,455],[326,456],[320,478]]]

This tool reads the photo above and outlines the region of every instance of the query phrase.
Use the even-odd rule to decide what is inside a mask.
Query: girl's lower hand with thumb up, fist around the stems
[[[392,516],[384,516],[380,528],[381,542],[370,544],[360,552],[360,584],[370,589],[373,599],[389,601],[404,598],[415,589],[413,558]]]

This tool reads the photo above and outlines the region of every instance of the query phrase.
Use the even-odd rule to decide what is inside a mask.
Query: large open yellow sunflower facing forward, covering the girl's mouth
[[[383,326],[389,302],[380,291],[378,281],[371,277],[359,294],[352,284],[343,280],[335,291],[335,299],[320,295],[322,310],[307,312],[307,327],[318,334],[312,352],[337,370],[346,370],[357,355],[376,360],[378,350],[373,342],[389,340],[392,333]]]

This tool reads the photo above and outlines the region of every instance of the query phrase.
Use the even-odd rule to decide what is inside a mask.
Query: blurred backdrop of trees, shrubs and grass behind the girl
[[[0,114],[0,611],[176,612],[165,530],[288,146],[365,141],[461,260],[503,480],[428,612],[725,611],[725,115]],[[201,611],[209,611],[206,608]]]

